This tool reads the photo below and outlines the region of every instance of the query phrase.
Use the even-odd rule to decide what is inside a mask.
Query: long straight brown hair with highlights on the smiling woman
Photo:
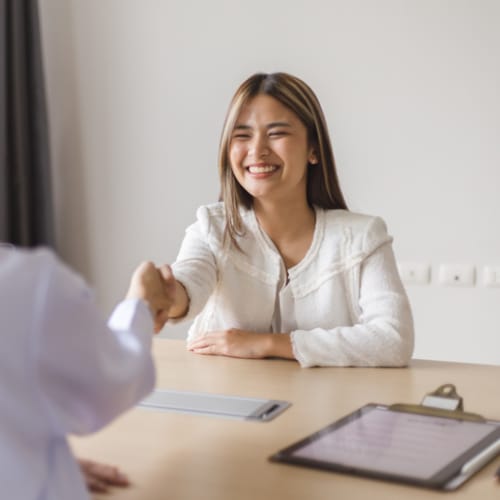
[[[229,148],[236,120],[243,106],[257,95],[268,95],[290,109],[307,130],[309,146],[318,164],[307,169],[307,202],[326,209],[345,209],[328,127],[318,98],[299,78],[288,73],[256,73],[236,90],[226,114],[219,145],[220,197],[226,214],[225,239],[239,248],[236,236],[243,234],[240,207],[250,208],[253,197],[237,181],[231,169]]]

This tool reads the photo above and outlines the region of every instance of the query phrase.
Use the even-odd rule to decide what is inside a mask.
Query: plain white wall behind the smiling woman
[[[348,203],[386,219],[398,261],[500,265],[497,0],[40,5],[60,250],[105,312],[216,200],[226,107],[256,71],[315,89]],[[407,289],[416,357],[500,364],[500,288]]]

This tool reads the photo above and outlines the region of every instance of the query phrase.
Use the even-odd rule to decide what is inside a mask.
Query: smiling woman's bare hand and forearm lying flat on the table
[[[207,332],[187,346],[197,354],[231,356],[234,358],[260,359],[271,356],[294,359],[290,335],[282,333],[259,333],[247,330]]]

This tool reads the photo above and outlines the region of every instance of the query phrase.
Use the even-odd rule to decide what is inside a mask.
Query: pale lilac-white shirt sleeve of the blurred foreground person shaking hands
[[[108,327],[83,280],[50,264],[36,297],[34,379],[54,429],[93,432],[153,389],[153,320],[144,302],[127,300]]]

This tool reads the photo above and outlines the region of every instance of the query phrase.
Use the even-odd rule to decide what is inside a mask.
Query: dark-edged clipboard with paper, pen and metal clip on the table
[[[465,412],[445,384],[420,405],[367,404],[269,460],[454,490],[499,453],[500,421]]]

